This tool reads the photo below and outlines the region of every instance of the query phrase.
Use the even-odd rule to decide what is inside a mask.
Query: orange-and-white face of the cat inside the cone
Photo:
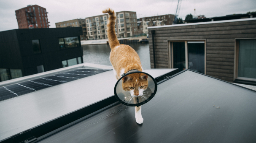
[[[122,79],[124,91],[129,91],[131,96],[142,96],[148,88],[148,75],[144,73],[132,73]]]

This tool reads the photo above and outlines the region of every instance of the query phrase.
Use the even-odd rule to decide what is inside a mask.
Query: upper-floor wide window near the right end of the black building
[[[78,37],[59,38],[60,49],[67,49],[72,47],[79,47]]]

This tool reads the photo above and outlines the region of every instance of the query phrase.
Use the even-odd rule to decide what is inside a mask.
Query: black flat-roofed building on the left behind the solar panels
[[[83,63],[82,27],[0,32],[0,80]]]

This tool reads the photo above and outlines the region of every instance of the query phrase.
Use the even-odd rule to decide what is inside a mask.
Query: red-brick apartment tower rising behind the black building
[[[27,5],[26,8],[15,10],[19,29],[28,29],[30,25],[33,28],[49,28],[48,12],[46,8],[39,5]]]

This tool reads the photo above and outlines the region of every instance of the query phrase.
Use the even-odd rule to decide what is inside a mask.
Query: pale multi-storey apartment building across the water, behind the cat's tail
[[[137,16],[134,11],[116,12],[116,36],[118,38],[137,35]],[[88,39],[107,39],[108,14],[86,18]]]

